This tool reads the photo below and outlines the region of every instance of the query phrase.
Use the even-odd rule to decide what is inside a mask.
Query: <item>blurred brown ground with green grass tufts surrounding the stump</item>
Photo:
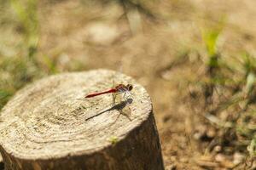
[[[166,169],[254,169],[255,16],[255,0],[0,0],[0,109],[48,75],[122,71],[152,97]]]

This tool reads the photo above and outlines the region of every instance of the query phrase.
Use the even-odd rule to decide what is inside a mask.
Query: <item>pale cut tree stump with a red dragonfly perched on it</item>
[[[111,94],[84,98],[112,88],[113,77],[134,85],[130,117],[112,106]],[[119,72],[46,77],[15,94],[0,118],[5,169],[164,169],[150,98]]]

